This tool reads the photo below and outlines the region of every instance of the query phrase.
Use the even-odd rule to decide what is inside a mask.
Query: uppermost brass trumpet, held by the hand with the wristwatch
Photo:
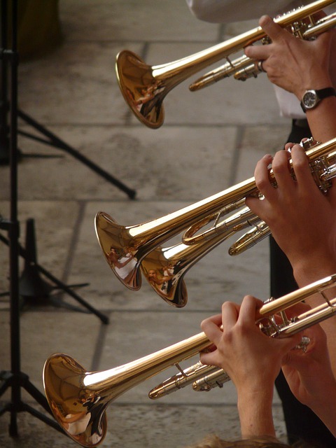
[[[296,28],[307,31],[307,26],[302,20],[309,18],[311,24],[309,34],[314,34],[315,24],[311,15],[332,3],[335,3],[335,0],[314,1],[307,6],[286,13],[274,21],[281,27],[295,24]],[[334,25],[332,20],[323,23],[323,31]],[[316,26],[318,26],[316,33],[321,32],[319,31],[321,24]],[[301,33],[303,32],[301,31]],[[256,27],[207,50],[157,66],[149,66],[134,52],[123,50],[116,57],[116,73],[120,90],[141,123],[154,129],[158,128],[165,118],[162,102],[170,90],[205,67],[223,58],[228,59],[233,53],[262,38],[265,38],[265,32],[261,27]]]

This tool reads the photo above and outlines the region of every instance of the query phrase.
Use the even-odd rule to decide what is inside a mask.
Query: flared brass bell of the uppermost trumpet
[[[148,127],[160,127],[165,120],[165,86],[154,78],[152,67],[134,52],[123,50],[116,57],[116,74],[123,97],[135,116]]]

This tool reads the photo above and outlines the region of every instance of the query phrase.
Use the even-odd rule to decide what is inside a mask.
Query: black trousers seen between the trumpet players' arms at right
[[[311,137],[307,122],[293,120],[288,141],[299,143],[304,137]],[[288,258],[272,237],[269,239],[269,248],[271,295],[272,297],[281,297],[297,289],[297,284]],[[294,397],[282,372],[277,377],[275,386],[283,406],[288,442],[291,444],[297,440],[303,440],[312,447],[335,448],[335,437],[309,407],[302,405]]]

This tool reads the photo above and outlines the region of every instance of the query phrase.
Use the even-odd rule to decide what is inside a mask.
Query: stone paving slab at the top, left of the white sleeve
[[[185,1],[162,1],[160,8],[151,0],[80,0],[60,3],[60,18],[69,40],[99,41],[197,41],[213,40],[218,25],[201,22],[188,10]],[[87,32],[83,34],[83,22]]]

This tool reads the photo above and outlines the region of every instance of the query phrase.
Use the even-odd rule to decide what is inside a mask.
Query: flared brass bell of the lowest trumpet
[[[45,362],[45,396],[56,421],[75,442],[96,447],[106,435],[106,402],[102,394],[88,391],[86,372],[76,360],[55,353]]]

